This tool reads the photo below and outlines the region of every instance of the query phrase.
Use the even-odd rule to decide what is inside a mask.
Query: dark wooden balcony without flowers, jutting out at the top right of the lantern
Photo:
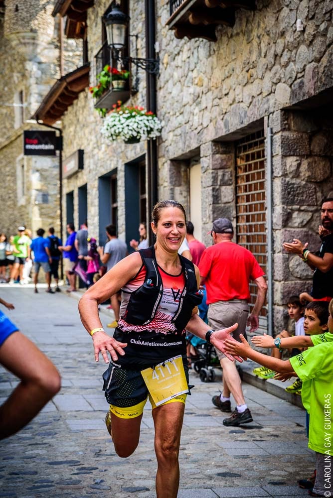
[[[236,10],[255,9],[255,0],[169,0],[170,17],[167,25],[176,38],[187,36],[216,41],[215,28],[233,26]]]

